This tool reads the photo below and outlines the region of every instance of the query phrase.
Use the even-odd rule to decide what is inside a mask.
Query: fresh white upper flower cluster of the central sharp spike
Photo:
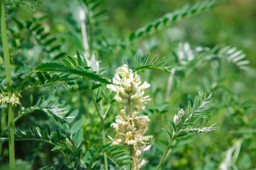
[[[146,81],[141,85],[141,79],[137,73],[133,73],[127,65],[123,65],[116,70],[113,78],[113,85],[107,85],[108,89],[115,91],[115,99],[119,103],[131,103],[133,107],[145,109],[150,96],[144,95],[144,90],[150,87]]]

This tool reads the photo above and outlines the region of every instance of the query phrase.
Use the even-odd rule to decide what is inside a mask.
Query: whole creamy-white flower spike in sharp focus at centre
[[[107,85],[108,89],[115,91],[115,99],[123,103],[123,109],[120,108],[120,114],[116,116],[115,123],[111,127],[115,128],[115,138],[112,144],[127,144],[133,146],[133,166],[132,169],[140,169],[146,164],[146,160],[140,159],[143,151],[150,149],[149,140],[153,136],[144,136],[148,129],[148,116],[138,116],[141,109],[145,109],[149,96],[143,96],[144,90],[150,87],[146,81],[141,85],[141,80],[137,73],[123,65],[116,70],[113,78],[113,85]],[[133,111],[136,108],[135,111]],[[128,114],[126,114],[126,109]]]

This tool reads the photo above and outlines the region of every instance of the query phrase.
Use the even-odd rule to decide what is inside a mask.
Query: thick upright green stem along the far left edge
[[[6,23],[5,23],[5,5],[3,0],[1,0],[1,36],[3,43],[3,56],[5,60],[5,75],[7,79],[7,91],[8,97],[11,97],[11,65],[10,65],[10,56],[8,48],[8,39],[6,32]],[[8,110],[8,129],[9,129],[9,163],[10,169],[15,168],[15,150],[14,150],[14,109],[11,103],[7,104]]]

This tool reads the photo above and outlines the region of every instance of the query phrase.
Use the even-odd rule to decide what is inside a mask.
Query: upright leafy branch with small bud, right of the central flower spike
[[[162,128],[168,138],[168,145],[157,169],[160,169],[164,163],[164,159],[170,151],[170,146],[176,138],[186,136],[189,133],[208,133],[216,130],[216,124],[204,127],[209,116],[207,107],[210,104],[211,96],[212,94],[206,96],[203,93],[199,93],[199,96],[195,97],[193,105],[189,102],[186,112],[183,109],[179,110],[179,113],[174,116],[173,121],[168,123],[169,130]]]

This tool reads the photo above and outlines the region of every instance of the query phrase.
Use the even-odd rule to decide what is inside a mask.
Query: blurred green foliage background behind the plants
[[[101,30],[98,34],[104,34],[110,42],[116,42],[117,39],[125,40],[131,32],[158,17],[162,17],[165,13],[183,7],[187,3],[193,4],[196,2],[194,0],[105,1],[101,8],[107,9],[107,17],[100,24],[99,28]],[[36,11],[21,7],[14,15],[15,18],[20,20],[30,19],[31,16],[46,15],[42,24],[44,24],[46,30],[49,30],[51,34],[58,38],[61,43],[61,50],[72,56],[75,54],[75,50],[84,50],[79,25],[78,11],[80,7],[82,7],[81,1],[44,0],[40,7],[36,7]],[[9,18],[8,24],[10,27],[13,25],[11,18]],[[184,76],[186,73],[177,71],[177,74],[174,75],[172,91],[167,99],[164,96],[169,77],[167,73],[146,71],[141,75],[142,79],[152,84],[149,92],[152,102],[148,107],[158,108],[158,112],[159,110],[166,110],[166,108],[168,110],[168,112],[162,114],[149,113],[151,123],[147,133],[153,134],[154,139],[152,140],[152,149],[143,155],[150,161],[145,169],[155,168],[166,146],[165,136],[162,134],[161,128],[167,126],[167,122],[172,120],[174,114],[178,112],[178,108],[187,107],[187,101],[193,100],[197,91],[213,93],[212,101],[214,104],[209,124],[217,122],[217,130],[210,134],[184,138],[174,144],[172,153],[166,160],[166,169],[256,169],[255,40],[255,1],[229,0],[224,1],[214,9],[175,22],[154,34],[136,40],[136,45],[132,47],[136,48],[135,51],[127,52],[114,46],[114,49],[110,52],[96,52],[96,58],[101,60],[101,67],[106,67],[107,75],[110,77],[113,76],[114,70],[122,64],[123,57],[131,58],[134,52],[140,54],[142,51],[141,54],[145,54],[145,50],[148,50],[152,54],[170,58],[170,65],[175,65],[173,52],[177,51],[181,43],[189,43],[191,48],[197,46],[214,48],[217,44],[219,46],[236,46],[243,50],[250,62],[249,69],[245,71],[230,65],[224,65],[225,71],[220,74],[214,70],[212,62],[202,64],[193,69],[186,79]],[[30,64],[30,67],[51,60],[51,57],[46,56],[45,53],[25,53],[28,53],[26,62]],[[13,57],[18,58],[18,56]],[[193,67],[193,65],[187,65],[187,67],[185,70]],[[184,82],[183,79],[185,79]],[[212,88],[215,84],[216,88]],[[53,87],[40,91],[32,89],[22,95],[25,99],[30,94],[34,94],[36,97],[40,95],[49,96],[51,95],[50,89],[52,91]],[[88,100],[82,99],[83,93],[87,93],[86,90],[64,91],[64,88],[60,89],[55,93],[55,96],[65,99],[71,105],[71,109],[78,109],[79,113],[93,112],[93,109],[85,103]],[[107,132],[112,136],[114,132],[109,127],[111,122],[114,121],[115,114],[117,114],[115,109],[117,107],[111,110],[113,114],[106,120]],[[92,143],[100,143],[100,132],[97,129],[99,120],[92,118],[92,115],[87,119],[87,116],[81,114],[81,118],[84,118],[86,122],[83,126],[84,144],[90,146]],[[37,119],[36,117],[30,118],[33,121]],[[22,121],[29,123],[30,120]],[[49,124],[46,121],[44,123]],[[20,126],[22,126],[21,123]],[[23,146],[23,144],[17,146],[21,147],[17,151],[19,152],[17,156],[19,159],[29,160],[34,159],[34,157],[39,157],[39,159],[36,159],[37,161],[44,159],[43,163],[40,161],[34,162],[35,167],[40,167],[44,163],[53,163],[51,157],[56,155],[49,153],[50,148],[45,149],[44,152],[39,149],[42,153],[38,154],[38,150],[33,151],[33,148],[31,151],[27,151],[28,146],[26,144]],[[36,144],[33,145],[36,146]],[[45,147],[40,146],[41,149]],[[28,153],[30,156],[25,156]],[[6,160],[7,158],[5,158]]]

